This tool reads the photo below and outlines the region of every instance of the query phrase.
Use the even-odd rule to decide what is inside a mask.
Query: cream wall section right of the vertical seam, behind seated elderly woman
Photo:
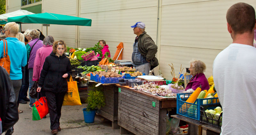
[[[170,66],[176,74],[189,67],[192,58],[206,64],[206,77],[212,75],[212,64],[232,39],[227,30],[228,8],[239,0],[163,0],[160,43],[160,69],[172,79]],[[243,1],[256,7],[256,1]],[[185,69],[186,71],[186,69]],[[183,71],[184,73],[184,71]]]

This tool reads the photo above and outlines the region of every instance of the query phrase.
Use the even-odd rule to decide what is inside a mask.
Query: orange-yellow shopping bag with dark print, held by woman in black
[[[70,77],[68,81],[68,92],[64,96],[62,105],[82,105],[78,93],[77,83],[76,81],[73,81],[72,77]]]

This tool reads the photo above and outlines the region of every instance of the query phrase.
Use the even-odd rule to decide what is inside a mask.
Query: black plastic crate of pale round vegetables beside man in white
[[[205,112],[206,109],[216,108],[217,106],[220,106],[220,105],[200,106],[200,122],[221,128],[222,113],[220,113],[220,116],[218,116],[218,115]]]

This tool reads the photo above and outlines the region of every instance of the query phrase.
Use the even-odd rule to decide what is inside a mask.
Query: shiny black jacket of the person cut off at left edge
[[[14,88],[8,72],[2,66],[0,66],[0,117],[2,119],[2,132],[19,120]]]

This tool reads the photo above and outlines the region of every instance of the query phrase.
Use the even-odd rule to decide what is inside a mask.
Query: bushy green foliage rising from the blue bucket
[[[105,106],[105,96],[102,92],[103,87],[92,87],[93,90],[89,91],[88,97],[86,100],[87,103],[87,111],[91,111],[94,109],[100,109]]]

